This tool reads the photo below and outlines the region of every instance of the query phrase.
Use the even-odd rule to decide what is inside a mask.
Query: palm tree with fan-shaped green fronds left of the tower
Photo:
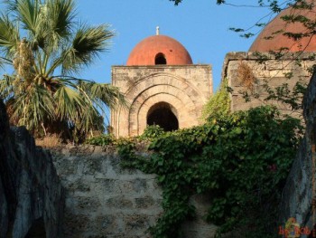
[[[75,18],[73,0],[6,0],[0,15],[0,66],[13,66],[0,80],[10,121],[35,136],[59,133],[86,138],[103,129],[106,107],[125,103],[106,83],[74,75],[107,51],[114,36],[107,24]]]

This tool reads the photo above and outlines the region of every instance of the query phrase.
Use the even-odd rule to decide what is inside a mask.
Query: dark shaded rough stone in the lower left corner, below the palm
[[[51,154],[10,129],[0,100],[0,238],[61,237],[63,195]]]

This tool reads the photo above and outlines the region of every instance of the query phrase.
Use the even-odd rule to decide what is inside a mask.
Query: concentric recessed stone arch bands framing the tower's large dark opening
[[[198,124],[200,94],[188,81],[180,77],[165,73],[149,75],[136,81],[133,87],[127,90],[126,97],[131,100],[128,121],[120,121],[120,123],[127,123],[129,136],[143,133],[147,125],[148,110],[154,103],[161,101],[169,103],[181,112],[178,117],[179,128]],[[168,101],[165,99],[168,99]],[[185,116],[182,115],[184,111],[186,112]]]

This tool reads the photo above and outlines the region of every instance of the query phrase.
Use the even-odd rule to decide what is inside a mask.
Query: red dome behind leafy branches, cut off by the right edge
[[[316,0],[310,0],[310,3],[315,3]],[[281,48],[288,48],[290,52],[316,52],[316,37],[303,37],[298,41],[294,41],[283,33],[277,33],[277,31],[283,30],[288,33],[305,33],[307,29],[300,23],[285,23],[281,17],[283,15],[304,15],[311,19],[316,20],[316,6],[312,10],[298,10],[291,7],[283,10],[278,14],[273,21],[265,26],[265,29],[258,35],[256,41],[251,45],[249,52],[269,52],[278,51]],[[272,39],[267,39],[268,37]]]

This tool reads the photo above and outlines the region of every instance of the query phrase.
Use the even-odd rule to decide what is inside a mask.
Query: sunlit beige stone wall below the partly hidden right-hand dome
[[[286,53],[280,59],[276,59],[275,55],[269,53],[263,53],[262,55],[265,56],[264,59],[263,57],[257,56],[256,52],[229,52],[227,54],[223,65],[222,79],[227,78],[228,86],[233,89],[231,93],[232,111],[249,109],[265,104],[264,99],[267,93],[262,86],[264,81],[268,81],[272,89],[283,83],[287,83],[289,88],[293,89],[297,81],[310,81],[311,71],[309,71],[309,69],[315,64],[313,60],[315,57],[314,53]],[[301,60],[299,62],[295,61],[297,58]],[[246,91],[247,87],[245,82],[238,77],[240,63],[245,63],[251,69],[255,78],[252,83],[252,91],[260,95],[258,99],[252,99],[249,102],[243,99],[242,92]],[[292,78],[288,79],[286,76],[290,75],[292,75]],[[286,105],[279,102],[271,103],[274,103],[274,105],[283,110],[283,112],[291,113]]]

